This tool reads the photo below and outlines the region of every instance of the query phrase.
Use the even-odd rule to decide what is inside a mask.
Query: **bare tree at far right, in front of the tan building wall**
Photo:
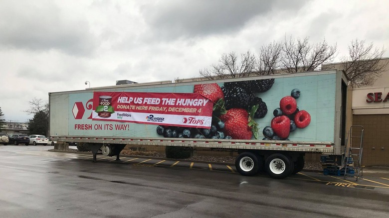
[[[353,88],[371,86],[382,76],[389,61],[381,61],[386,49],[374,48],[373,42],[366,44],[365,40],[352,40],[348,46],[349,56],[342,57],[342,69]]]

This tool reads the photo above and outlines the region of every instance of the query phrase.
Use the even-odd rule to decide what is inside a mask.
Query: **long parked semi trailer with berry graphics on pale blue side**
[[[115,156],[127,145],[237,151],[244,176],[301,171],[306,153],[343,162],[341,70],[134,83],[49,93],[49,134]]]

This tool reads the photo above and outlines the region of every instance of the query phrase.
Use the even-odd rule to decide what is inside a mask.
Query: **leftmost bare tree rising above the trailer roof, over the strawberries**
[[[199,70],[202,77],[207,79],[247,77],[255,69],[255,56],[247,51],[240,54],[238,60],[235,52],[223,53],[219,64],[212,64],[210,69]]]

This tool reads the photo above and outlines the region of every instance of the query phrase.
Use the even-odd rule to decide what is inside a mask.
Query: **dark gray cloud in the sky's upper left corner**
[[[0,3],[0,45],[26,50],[58,49],[71,55],[88,55],[95,40],[82,17],[67,19],[64,11],[51,1]]]

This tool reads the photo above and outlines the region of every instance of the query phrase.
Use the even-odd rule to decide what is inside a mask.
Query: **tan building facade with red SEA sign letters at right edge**
[[[389,58],[380,62],[388,63]],[[341,69],[341,63],[322,66],[322,69],[336,68]],[[349,91],[352,125],[364,129],[362,165],[389,166],[389,64],[372,86]],[[359,146],[360,140],[352,139],[353,146]]]

